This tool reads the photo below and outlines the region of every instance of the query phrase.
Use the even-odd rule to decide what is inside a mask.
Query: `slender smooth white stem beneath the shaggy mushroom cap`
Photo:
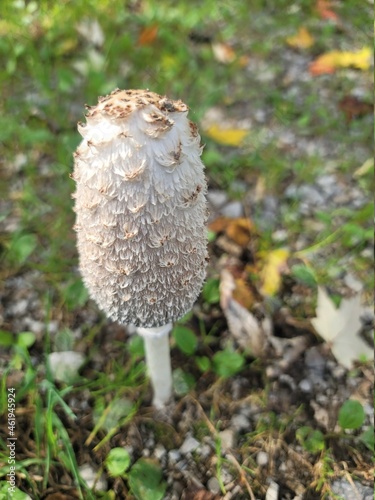
[[[172,395],[172,368],[169,332],[172,323],[155,328],[137,328],[145,344],[146,363],[154,389],[153,405],[163,408]]]

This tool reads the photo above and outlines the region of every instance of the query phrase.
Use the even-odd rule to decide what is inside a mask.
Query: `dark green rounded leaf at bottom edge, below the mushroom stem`
[[[137,500],[163,500],[166,483],[157,463],[140,458],[129,472],[131,493]]]

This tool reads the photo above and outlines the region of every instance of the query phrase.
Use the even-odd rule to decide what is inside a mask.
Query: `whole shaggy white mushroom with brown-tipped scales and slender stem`
[[[148,90],[87,106],[74,153],[83,281],[112,320],[132,324],[162,407],[172,392],[169,332],[206,275],[206,180],[188,107]]]

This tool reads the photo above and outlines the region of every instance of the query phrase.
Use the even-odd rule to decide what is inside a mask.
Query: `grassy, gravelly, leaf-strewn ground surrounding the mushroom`
[[[372,498],[371,5],[250,4],[0,7],[0,498]],[[72,230],[76,122],[116,87],[183,99],[205,144],[163,410]]]

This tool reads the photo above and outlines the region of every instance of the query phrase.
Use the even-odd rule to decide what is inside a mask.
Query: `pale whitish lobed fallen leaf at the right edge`
[[[316,332],[331,347],[336,360],[347,369],[353,362],[364,356],[374,358],[374,351],[358,335],[362,329],[361,298],[357,294],[350,299],[343,299],[336,308],[326,291],[318,288],[316,318],[311,320]]]

